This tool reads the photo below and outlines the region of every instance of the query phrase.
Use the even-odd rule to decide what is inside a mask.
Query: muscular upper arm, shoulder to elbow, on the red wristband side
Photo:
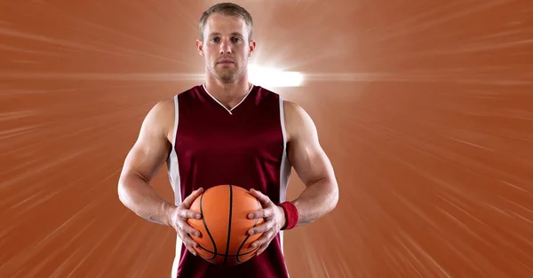
[[[333,177],[330,159],[322,150],[311,117],[298,105],[285,103],[290,141],[288,156],[298,177],[306,185]]]

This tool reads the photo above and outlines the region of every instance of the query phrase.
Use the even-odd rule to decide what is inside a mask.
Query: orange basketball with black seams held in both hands
[[[192,236],[198,243],[198,256],[220,266],[235,266],[251,259],[259,247],[251,243],[262,234],[250,236],[248,231],[264,222],[248,219],[250,212],[262,209],[259,200],[246,189],[235,185],[218,185],[197,197],[190,208],[202,214],[201,220],[188,224],[202,236]]]

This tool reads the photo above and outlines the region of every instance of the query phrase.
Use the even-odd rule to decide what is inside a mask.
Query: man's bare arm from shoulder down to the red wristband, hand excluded
[[[338,184],[311,117],[298,104],[284,101],[283,106],[289,135],[288,158],[306,185],[292,201],[298,209],[297,226],[301,226],[318,220],[337,206]]]

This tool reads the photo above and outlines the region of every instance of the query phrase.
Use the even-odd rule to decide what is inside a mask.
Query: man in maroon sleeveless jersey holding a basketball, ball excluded
[[[196,47],[205,60],[206,81],[163,100],[148,112],[139,138],[124,161],[118,184],[123,205],[140,217],[178,233],[172,277],[289,277],[282,231],[321,218],[338,202],[330,160],[313,121],[297,104],[248,81],[250,14],[236,4],[212,6],[200,19]],[[174,204],[149,185],[166,161]],[[306,189],[285,200],[291,166]],[[250,189],[263,210],[249,217],[266,222],[257,256],[238,266],[216,266],[195,252],[189,210],[204,189],[235,184]]]

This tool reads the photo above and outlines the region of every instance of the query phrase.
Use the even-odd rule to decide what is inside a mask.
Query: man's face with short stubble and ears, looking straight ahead
[[[255,42],[249,42],[244,19],[213,14],[203,28],[203,42],[196,41],[196,46],[207,70],[227,83],[243,76]]]

